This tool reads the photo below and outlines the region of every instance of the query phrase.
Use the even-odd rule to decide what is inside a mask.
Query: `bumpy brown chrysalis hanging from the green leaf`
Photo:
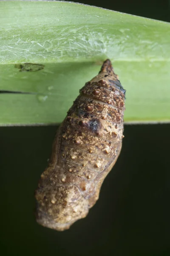
[[[85,218],[122,147],[125,90],[106,60],[62,122],[35,192],[37,222],[66,230]]]

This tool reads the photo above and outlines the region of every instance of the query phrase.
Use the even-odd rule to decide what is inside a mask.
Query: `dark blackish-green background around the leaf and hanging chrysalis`
[[[170,21],[168,1],[82,3]],[[34,189],[55,131],[54,126],[0,128],[1,255],[169,256],[170,124],[125,125],[122,152],[98,202],[64,232],[34,219]]]

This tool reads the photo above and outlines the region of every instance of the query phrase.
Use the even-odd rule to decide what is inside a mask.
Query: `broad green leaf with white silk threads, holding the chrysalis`
[[[106,58],[127,90],[126,122],[170,121],[169,23],[77,3],[0,1],[0,125],[62,122]]]

